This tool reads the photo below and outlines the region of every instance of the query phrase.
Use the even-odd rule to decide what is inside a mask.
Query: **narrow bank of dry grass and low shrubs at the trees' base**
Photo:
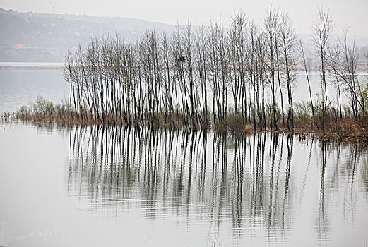
[[[37,97],[35,102],[28,106],[20,107],[16,112],[5,113],[1,118],[5,121],[18,119],[20,121],[32,121],[36,123],[54,122],[63,124],[89,124],[89,125],[126,125],[123,121],[114,121],[114,113],[107,114],[105,122],[99,121],[99,118],[88,114],[84,109],[84,116],[78,116],[73,112],[68,103],[54,104],[52,101]],[[179,114],[180,115],[180,114]],[[143,114],[144,116],[144,114]],[[348,110],[345,110],[341,117],[336,109],[328,108],[326,114],[321,114],[316,109],[316,115],[313,117],[307,104],[299,104],[295,111],[294,132],[288,131],[285,124],[279,123],[278,130],[271,130],[271,116],[266,116],[266,126],[268,128],[259,129],[254,123],[254,119],[244,119],[242,116],[228,114],[225,119],[214,121],[213,115],[208,124],[208,128],[214,131],[228,132],[230,134],[256,133],[259,131],[270,131],[279,133],[295,133],[299,138],[307,138],[309,135],[328,141],[339,141],[349,143],[363,143],[368,145],[368,121],[364,118],[352,117]],[[173,116],[176,118],[177,116]],[[131,119],[131,126],[148,126],[149,128],[186,128],[182,121],[174,119],[179,123],[172,124],[172,118],[168,118],[165,113],[158,114],[155,121],[135,121]],[[321,128],[321,121],[324,122],[324,130]],[[199,129],[200,126],[197,126]]]

